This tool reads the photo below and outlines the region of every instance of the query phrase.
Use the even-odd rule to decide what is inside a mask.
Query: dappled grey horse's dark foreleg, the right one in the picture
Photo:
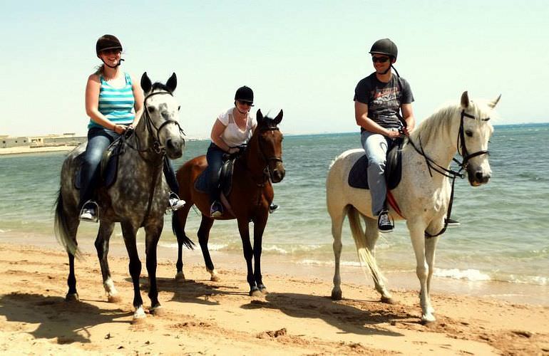
[[[149,299],[150,299],[150,313],[158,314],[161,308],[160,302],[158,302],[158,286],[156,285],[156,266],[157,256],[156,248],[158,246],[158,240],[162,233],[164,220],[159,219],[156,224],[149,224],[145,226],[145,254],[147,258],[147,273],[149,277]]]

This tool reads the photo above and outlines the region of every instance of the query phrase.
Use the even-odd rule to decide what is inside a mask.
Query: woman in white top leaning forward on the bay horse
[[[239,146],[250,140],[257,126],[255,116],[250,112],[254,103],[254,92],[243,86],[235,93],[235,107],[221,112],[212,127],[212,143],[207,149],[207,174],[210,190],[210,216],[222,216],[219,202],[219,177],[223,155],[238,152]]]

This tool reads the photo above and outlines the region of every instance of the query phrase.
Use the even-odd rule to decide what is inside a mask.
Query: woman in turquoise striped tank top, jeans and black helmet
[[[88,146],[81,167],[80,219],[97,221],[98,205],[93,201],[98,188],[99,164],[108,145],[132,127],[135,117],[143,112],[143,90],[138,81],[120,70],[122,44],[113,35],[101,36],[96,43],[96,54],[103,62],[86,84],[86,114]],[[178,183],[168,159],[164,174],[172,192],[178,192]],[[177,210],[185,204],[170,193],[169,206]]]

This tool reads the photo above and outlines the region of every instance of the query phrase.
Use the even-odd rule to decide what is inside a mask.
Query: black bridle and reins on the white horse
[[[399,115],[399,114],[397,114],[397,116],[399,117],[399,120],[401,120],[401,122],[403,123],[404,127],[406,127],[406,121],[404,120],[404,118],[401,117],[401,115]],[[480,150],[480,151],[468,154],[467,147],[466,147],[466,144],[465,144],[465,132],[463,130],[463,118],[464,117],[468,117],[470,119],[480,120],[480,121],[490,120],[490,117],[486,117],[485,119],[481,119],[481,118],[477,119],[477,117],[468,114],[467,112],[465,112],[465,110],[461,110],[461,117],[460,117],[460,122],[459,122],[459,131],[458,131],[458,139],[457,139],[456,146],[458,147],[458,153],[463,158],[463,161],[459,162],[458,159],[452,158],[453,162],[456,162],[459,165],[458,171],[454,171],[453,169],[448,169],[446,167],[442,167],[440,164],[436,163],[433,159],[431,159],[429,156],[427,156],[425,151],[424,151],[424,147],[421,143],[421,137],[419,137],[419,149],[414,144],[414,141],[412,141],[411,138],[408,137],[408,142],[410,142],[410,145],[412,147],[414,147],[414,150],[416,150],[416,152],[418,152],[419,155],[421,155],[425,158],[425,162],[427,164],[427,167],[429,168],[429,175],[431,177],[433,177],[433,173],[431,172],[431,169],[432,169],[435,172],[438,172],[439,174],[442,174],[444,177],[452,179],[452,189],[451,189],[451,193],[450,193],[450,201],[448,202],[448,209],[446,211],[446,218],[444,219],[444,227],[442,228],[441,231],[438,231],[438,234],[435,234],[435,235],[431,235],[427,231],[424,231],[425,232],[425,237],[427,237],[427,238],[440,236],[440,235],[444,234],[444,231],[446,231],[446,228],[448,227],[448,219],[450,219],[450,214],[451,214],[451,211],[452,211],[453,192],[454,192],[454,184],[456,183],[456,177],[460,177],[461,179],[463,179],[465,177],[465,174],[463,174],[462,171],[463,171],[463,169],[465,169],[467,167],[467,163],[468,163],[469,159],[471,159],[473,157],[476,157],[476,156],[480,156],[480,155],[490,155],[490,152],[488,152],[488,150]],[[461,149],[461,152],[460,152],[460,149]]]

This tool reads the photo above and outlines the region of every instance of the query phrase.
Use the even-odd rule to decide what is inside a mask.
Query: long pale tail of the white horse
[[[371,274],[376,286],[380,283],[383,284],[385,278],[377,266],[376,258],[371,254],[368,246],[366,246],[366,234],[360,224],[361,214],[354,206],[349,205],[348,207],[347,217],[349,218],[351,234],[356,245],[356,253],[359,255],[360,267],[366,276]],[[366,271],[366,266],[369,267],[369,271]]]

